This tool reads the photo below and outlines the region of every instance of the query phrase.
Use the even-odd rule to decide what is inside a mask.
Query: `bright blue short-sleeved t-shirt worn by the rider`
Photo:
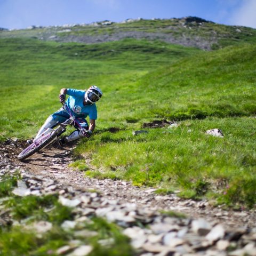
[[[67,94],[69,95],[67,105],[75,117],[86,118],[89,116],[90,119],[97,119],[97,107],[95,103],[93,105],[84,105],[85,91],[67,89]]]

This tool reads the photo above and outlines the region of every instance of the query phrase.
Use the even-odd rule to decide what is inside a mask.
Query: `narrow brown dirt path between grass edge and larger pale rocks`
[[[87,178],[83,172],[68,167],[72,161],[71,150],[75,145],[65,148],[53,145],[20,162],[17,155],[24,146],[25,143],[19,141],[2,143],[0,169],[8,165],[9,168],[19,167],[30,174],[57,180],[74,188],[97,190],[103,197],[120,203],[136,203],[142,209],[154,211],[181,212],[193,219],[204,218],[213,223],[221,223],[227,229],[256,227],[256,210],[226,211],[220,207],[212,207],[206,201],[184,200],[175,194],[156,195],[154,188],[135,187],[131,182]]]

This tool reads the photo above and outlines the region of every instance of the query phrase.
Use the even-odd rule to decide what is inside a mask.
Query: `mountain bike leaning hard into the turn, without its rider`
[[[57,123],[53,129],[48,128],[44,133],[39,135],[38,138],[34,139],[33,143],[31,143],[18,155],[19,160],[26,159],[27,157],[37,153],[39,150],[45,148],[46,146],[49,146],[54,141],[58,140],[60,135],[66,131],[67,125],[76,126],[77,129],[82,133],[86,132],[76,120],[76,117],[71,114],[71,111],[67,106],[66,102],[63,102],[62,105],[63,109],[68,113],[70,117],[63,123]]]

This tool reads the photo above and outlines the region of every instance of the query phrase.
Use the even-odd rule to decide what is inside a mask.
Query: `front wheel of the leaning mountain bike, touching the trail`
[[[33,142],[31,145],[29,145],[27,148],[25,148],[19,155],[18,159],[24,160],[28,158],[29,156],[35,154],[40,149],[46,147],[51,142],[53,142],[58,135],[58,131],[52,131],[50,133],[45,134],[39,141]]]

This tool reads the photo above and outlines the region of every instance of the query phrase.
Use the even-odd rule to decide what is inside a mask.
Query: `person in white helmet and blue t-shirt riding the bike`
[[[102,91],[95,85],[91,86],[87,91],[62,88],[59,95],[61,103],[65,102],[66,95],[69,95],[66,102],[67,106],[69,107],[71,114],[77,118],[77,121],[82,126],[83,130],[79,131],[78,127],[75,126],[77,130],[73,131],[68,137],[63,137],[58,141],[60,146],[84,136],[87,138],[91,137],[91,134],[95,129],[95,120],[97,119],[97,107],[95,102],[102,97]],[[85,119],[87,116],[89,116],[90,125],[88,125]],[[58,122],[65,122],[69,117],[68,113],[61,107],[46,119],[35,139],[48,128],[52,129]],[[27,142],[29,144],[33,143],[32,140],[28,140]]]

